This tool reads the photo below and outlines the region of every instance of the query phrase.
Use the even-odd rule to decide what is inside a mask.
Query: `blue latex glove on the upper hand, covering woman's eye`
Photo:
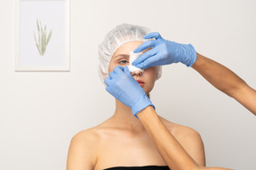
[[[158,32],[149,33],[143,36],[144,39],[156,38],[143,42],[139,47],[133,50],[138,53],[150,47],[154,47],[136,58],[132,65],[138,68],[148,68],[149,66],[163,66],[172,63],[183,63],[186,66],[192,66],[196,62],[196,50],[189,44],[171,42],[164,40]]]

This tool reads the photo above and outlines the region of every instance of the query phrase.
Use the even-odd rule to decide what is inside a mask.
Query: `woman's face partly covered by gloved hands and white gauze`
[[[130,52],[135,50],[142,43],[143,42],[136,41],[136,42],[126,42],[123,45],[121,45],[111,58],[111,61],[108,67],[108,73],[112,72],[115,66],[129,66]],[[143,50],[141,52],[144,53],[148,50],[149,49]],[[131,74],[135,80],[141,80],[145,82],[144,85],[142,85],[141,87],[142,89],[144,89],[145,93],[148,95],[155,85],[156,66],[150,66],[144,69],[143,73],[141,73],[140,71],[135,71]]]

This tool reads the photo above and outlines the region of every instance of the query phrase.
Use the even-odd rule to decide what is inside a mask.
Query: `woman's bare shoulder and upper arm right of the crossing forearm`
[[[172,123],[162,117],[160,117],[160,120],[185,151],[188,152],[188,155],[190,155],[199,166],[205,166],[204,143],[201,135],[193,128]]]

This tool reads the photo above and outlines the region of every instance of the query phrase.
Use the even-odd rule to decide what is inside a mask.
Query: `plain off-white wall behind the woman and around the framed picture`
[[[192,43],[256,88],[256,1],[71,0],[68,73],[14,72],[14,4],[0,1],[0,169],[65,169],[72,136],[112,116],[98,45],[122,23]],[[159,115],[201,134],[207,166],[256,169],[256,117],[195,70],[164,66],[151,99]]]

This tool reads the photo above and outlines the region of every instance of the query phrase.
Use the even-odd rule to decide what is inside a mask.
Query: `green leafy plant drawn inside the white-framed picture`
[[[40,23],[40,27],[39,27],[39,23]],[[38,23],[38,19],[36,19],[36,25],[37,25],[37,30],[38,30],[38,42],[36,40],[35,31],[34,31],[34,37],[35,37],[35,41],[36,41],[37,50],[39,51],[41,56],[44,56],[46,47],[47,47],[47,45],[51,39],[51,36],[52,36],[52,30],[51,30],[50,34],[47,36],[46,25],[44,25],[44,29],[43,29],[40,21],[39,21],[39,23]],[[46,39],[46,36],[47,36],[47,39]]]

